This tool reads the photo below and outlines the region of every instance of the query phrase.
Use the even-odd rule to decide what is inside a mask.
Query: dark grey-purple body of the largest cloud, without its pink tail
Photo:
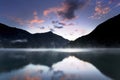
[[[63,19],[75,18],[75,11],[86,5],[88,0],[65,0],[61,10],[57,11],[58,15]]]

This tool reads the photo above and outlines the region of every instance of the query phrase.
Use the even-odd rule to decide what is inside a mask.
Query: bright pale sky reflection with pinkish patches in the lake
[[[70,56],[46,65],[29,64],[21,69],[0,73],[0,80],[111,80],[91,63]]]

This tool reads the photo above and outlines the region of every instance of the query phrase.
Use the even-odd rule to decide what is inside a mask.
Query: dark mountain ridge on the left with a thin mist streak
[[[68,40],[52,32],[31,34],[25,30],[0,24],[1,48],[63,47]]]

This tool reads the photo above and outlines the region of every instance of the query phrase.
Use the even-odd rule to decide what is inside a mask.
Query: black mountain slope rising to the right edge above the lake
[[[120,14],[98,25],[90,34],[71,41],[69,47],[120,47]]]

